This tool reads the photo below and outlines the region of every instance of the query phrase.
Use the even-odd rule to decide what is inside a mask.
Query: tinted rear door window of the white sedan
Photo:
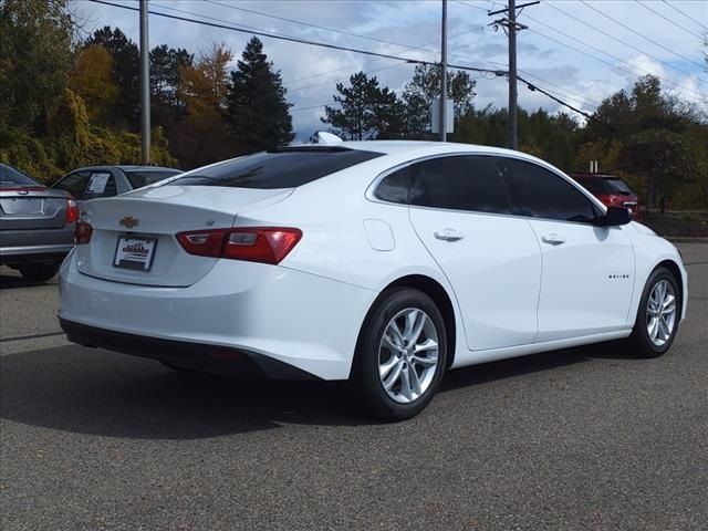
[[[413,166],[410,204],[421,207],[511,214],[511,204],[494,157],[457,156]]]

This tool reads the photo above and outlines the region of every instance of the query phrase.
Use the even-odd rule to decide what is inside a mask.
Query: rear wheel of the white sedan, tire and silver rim
[[[442,314],[425,293],[398,288],[369,310],[356,346],[355,384],[385,420],[420,413],[440,385],[447,362]]]

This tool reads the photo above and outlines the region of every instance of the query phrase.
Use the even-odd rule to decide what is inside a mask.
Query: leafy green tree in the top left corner
[[[67,0],[0,2],[0,127],[43,133],[66,85],[74,23]]]

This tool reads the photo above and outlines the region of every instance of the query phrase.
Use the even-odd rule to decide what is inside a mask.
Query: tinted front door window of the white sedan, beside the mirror
[[[504,163],[524,215],[581,223],[595,221],[590,199],[568,180],[525,160],[506,158]]]

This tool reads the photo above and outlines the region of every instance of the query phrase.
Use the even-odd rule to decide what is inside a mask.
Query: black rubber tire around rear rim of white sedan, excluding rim
[[[433,320],[438,334],[438,366],[430,386],[421,397],[410,404],[399,404],[386,394],[381,383],[378,351],[385,327],[398,312],[406,308],[420,309]],[[355,354],[354,379],[371,409],[387,420],[410,418],[425,409],[442,379],[447,363],[447,344],[445,321],[433,299],[412,288],[384,292],[364,321]]]

